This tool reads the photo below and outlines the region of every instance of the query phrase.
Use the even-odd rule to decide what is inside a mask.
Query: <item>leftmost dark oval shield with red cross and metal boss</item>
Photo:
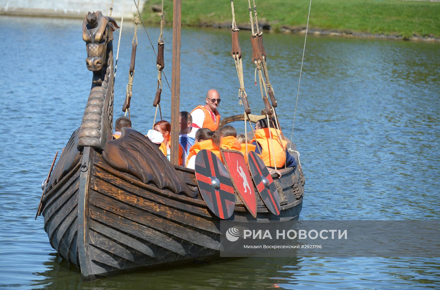
[[[221,219],[234,213],[235,194],[231,179],[220,159],[209,150],[195,157],[195,178],[208,208]]]

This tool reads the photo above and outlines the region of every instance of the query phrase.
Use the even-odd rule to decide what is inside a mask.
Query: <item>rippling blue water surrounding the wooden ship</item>
[[[115,32],[114,48],[117,47]],[[154,42],[158,28],[149,28]],[[171,81],[171,30],[165,74]],[[245,86],[263,108],[242,31]],[[123,113],[133,26],[123,26],[115,118]],[[183,29],[181,110],[219,90],[223,116],[242,113],[230,32]],[[246,40],[246,41],[245,41]],[[277,113],[290,137],[303,36],[264,33]],[[92,73],[81,20],[0,17],[0,285],[69,289],[417,289],[440,288],[440,258],[286,257],[229,260],[83,282],[34,220],[55,151],[80,125]],[[293,140],[306,178],[303,220],[438,219],[440,44],[308,37]],[[139,29],[131,117],[153,125],[157,69]],[[170,92],[162,93],[170,119]],[[244,131],[240,123],[235,124]],[[248,128],[249,129],[249,128]]]

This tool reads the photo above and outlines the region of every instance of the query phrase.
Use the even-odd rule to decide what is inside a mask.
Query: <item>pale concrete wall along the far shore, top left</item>
[[[125,0],[125,17],[133,18],[136,4]],[[137,1],[136,1],[137,2]],[[42,17],[84,18],[88,11],[102,11],[109,15],[111,0],[0,0],[0,15],[27,15]],[[144,0],[139,1],[142,11]],[[124,0],[114,0],[114,18],[121,18]]]

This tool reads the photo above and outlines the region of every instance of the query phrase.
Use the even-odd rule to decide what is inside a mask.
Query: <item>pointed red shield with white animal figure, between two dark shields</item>
[[[237,191],[238,196],[242,199],[249,213],[254,218],[257,217],[257,198],[255,197],[255,189],[243,154],[236,150],[220,149],[220,152],[226,170],[229,172],[229,176],[231,176],[231,182],[235,191]]]

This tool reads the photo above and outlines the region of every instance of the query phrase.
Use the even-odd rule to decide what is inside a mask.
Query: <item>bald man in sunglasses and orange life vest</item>
[[[191,111],[193,119],[192,127],[209,128],[216,131],[220,123],[220,114],[217,107],[220,105],[220,93],[215,89],[210,89],[206,93],[205,106],[197,106]]]

